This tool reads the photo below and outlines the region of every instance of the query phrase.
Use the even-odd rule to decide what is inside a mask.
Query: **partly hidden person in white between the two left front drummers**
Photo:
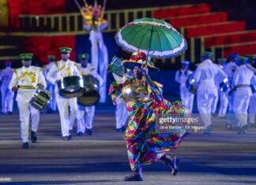
[[[55,55],[48,55],[49,63],[43,66],[43,76],[47,78],[47,73],[50,71],[52,65],[55,65]],[[47,91],[51,92],[52,98],[49,105],[48,113],[56,112],[57,104],[55,98],[55,84],[47,81]]]

